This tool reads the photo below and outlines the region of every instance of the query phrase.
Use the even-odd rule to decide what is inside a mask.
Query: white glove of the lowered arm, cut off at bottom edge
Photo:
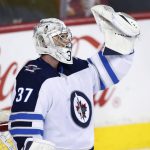
[[[22,150],[56,150],[55,144],[36,138],[28,138],[25,141],[24,147]]]

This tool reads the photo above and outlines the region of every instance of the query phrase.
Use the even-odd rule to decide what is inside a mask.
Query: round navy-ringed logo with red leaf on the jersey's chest
[[[80,91],[74,91],[71,94],[71,116],[73,121],[82,128],[86,128],[90,124],[92,116],[91,102]]]

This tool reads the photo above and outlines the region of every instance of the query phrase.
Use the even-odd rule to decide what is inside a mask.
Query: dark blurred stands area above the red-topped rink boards
[[[90,8],[96,4],[126,13],[150,11],[150,0],[0,0],[0,25],[37,22],[49,16],[63,20],[91,17]]]

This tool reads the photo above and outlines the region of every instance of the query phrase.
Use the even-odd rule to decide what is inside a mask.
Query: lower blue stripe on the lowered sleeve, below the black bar
[[[12,129],[10,130],[12,135],[22,134],[22,135],[37,135],[43,136],[43,130],[40,129]]]

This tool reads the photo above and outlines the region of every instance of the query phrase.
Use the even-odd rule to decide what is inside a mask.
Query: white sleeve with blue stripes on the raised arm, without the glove
[[[93,90],[97,93],[114,84],[117,84],[131,67],[134,53],[121,55],[119,53],[106,53],[99,51],[88,59],[93,74]]]

